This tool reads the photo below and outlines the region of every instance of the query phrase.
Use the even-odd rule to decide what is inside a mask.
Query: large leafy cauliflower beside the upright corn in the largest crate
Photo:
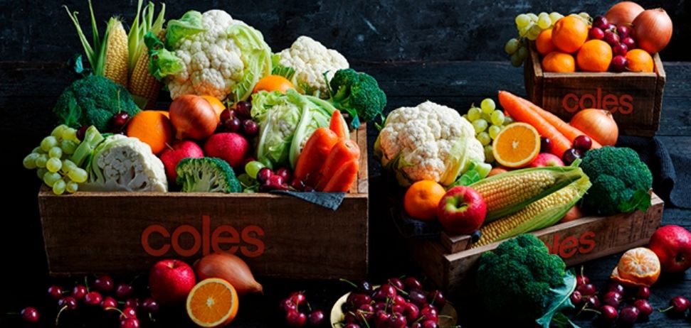
[[[263,35],[226,11],[188,11],[168,23],[164,47],[153,38],[147,35],[149,71],[164,79],[173,99],[199,94],[245,100],[271,72],[271,49]]]

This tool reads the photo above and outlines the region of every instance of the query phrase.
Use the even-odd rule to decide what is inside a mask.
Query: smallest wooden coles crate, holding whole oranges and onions
[[[534,43],[528,49],[525,91],[535,104],[566,121],[581,109],[607,109],[621,134],[653,136],[658,131],[666,80],[660,55],[653,55],[652,73],[555,73],[542,71]]]

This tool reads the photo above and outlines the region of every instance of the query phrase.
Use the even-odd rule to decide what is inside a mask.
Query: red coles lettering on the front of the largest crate
[[[248,225],[234,227],[216,226],[211,230],[211,217],[201,216],[201,231],[195,226],[181,224],[167,228],[152,224],[142,231],[142,248],[150,256],[164,256],[172,248],[179,256],[190,257],[201,251],[202,255],[213,252],[237,253],[255,258],[264,253],[264,229]],[[191,243],[184,243],[191,239]],[[240,254],[238,254],[240,255]]]

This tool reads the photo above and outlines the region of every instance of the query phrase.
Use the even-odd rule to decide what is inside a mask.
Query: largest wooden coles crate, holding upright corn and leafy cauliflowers
[[[366,149],[366,127],[352,133]],[[368,261],[367,156],[337,211],[287,195],[38,193],[51,275],[148,272],[162,258],[193,263],[228,251],[253,273],[364,278]]]

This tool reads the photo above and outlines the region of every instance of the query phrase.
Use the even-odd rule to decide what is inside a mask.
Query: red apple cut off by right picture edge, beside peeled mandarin
[[[679,273],[691,268],[691,232],[681,226],[661,226],[650,237],[648,248],[660,258],[663,272]]]

